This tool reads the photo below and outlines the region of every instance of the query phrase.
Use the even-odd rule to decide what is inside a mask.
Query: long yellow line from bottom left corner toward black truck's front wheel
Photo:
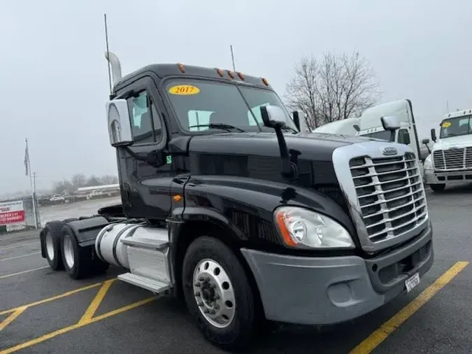
[[[28,348],[30,346],[34,346],[35,344],[38,344],[38,343],[41,343],[43,341],[47,341],[48,339],[52,339],[54,337],[57,337],[60,334],[71,332],[72,330],[76,330],[80,327],[90,325],[91,323],[99,322],[100,320],[103,320],[105,318],[108,318],[108,317],[111,317],[111,316],[116,316],[117,314],[122,313],[124,311],[134,309],[138,306],[143,306],[145,304],[148,304],[149,302],[152,302],[152,300],[154,300],[155,298],[156,297],[148,297],[148,299],[144,299],[144,300],[141,300],[141,301],[138,301],[138,302],[134,302],[134,304],[130,304],[128,306],[123,306],[120,309],[116,309],[116,310],[113,310],[113,311],[110,311],[110,312],[107,312],[107,313],[103,313],[103,315],[96,316],[95,318],[92,318],[88,322],[76,323],[75,325],[71,325],[69,327],[64,327],[64,328],[61,328],[60,330],[50,332],[50,333],[45,334],[41,337],[31,339],[31,341],[25,341],[24,343],[18,344],[17,346],[12,346],[10,348],[3,349],[3,351],[0,351],[0,354],[10,354],[10,353],[14,353],[15,351],[20,351],[21,349]]]

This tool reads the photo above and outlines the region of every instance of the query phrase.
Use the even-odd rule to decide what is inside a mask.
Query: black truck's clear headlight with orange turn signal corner
[[[289,247],[355,248],[348,230],[326,215],[297,206],[282,206],[276,209],[274,218]]]

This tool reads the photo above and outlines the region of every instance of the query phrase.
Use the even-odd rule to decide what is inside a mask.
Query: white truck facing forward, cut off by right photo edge
[[[472,109],[444,115],[439,127],[439,138],[431,129],[434,145],[424,160],[424,183],[434,192],[446,184],[472,182]]]

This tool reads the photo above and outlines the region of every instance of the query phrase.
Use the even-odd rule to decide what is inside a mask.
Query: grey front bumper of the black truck
[[[433,264],[431,237],[429,224],[415,241],[369,260],[241,251],[268,320],[327,325],[362,316],[406,292],[406,279]]]

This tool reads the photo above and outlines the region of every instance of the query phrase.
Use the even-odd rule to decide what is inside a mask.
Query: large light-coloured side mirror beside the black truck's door
[[[108,137],[110,145],[130,146],[133,143],[131,120],[129,119],[128,102],[126,99],[113,99],[106,102],[108,120]]]

